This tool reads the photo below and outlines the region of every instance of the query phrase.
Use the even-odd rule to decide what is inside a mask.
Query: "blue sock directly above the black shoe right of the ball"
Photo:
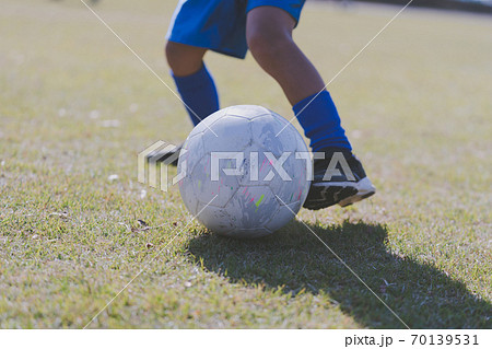
[[[325,148],[345,148],[352,150],[345,131],[340,125],[340,116],[328,91],[323,91],[313,102],[313,94],[292,107],[304,133],[311,140],[313,151]],[[311,104],[308,105],[308,103]],[[307,107],[306,107],[307,105]],[[303,108],[305,109],[303,110]],[[302,110],[302,112],[301,112]]]

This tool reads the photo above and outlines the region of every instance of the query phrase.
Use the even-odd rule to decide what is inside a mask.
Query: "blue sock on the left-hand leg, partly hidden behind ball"
[[[172,75],[183,102],[188,105],[186,110],[194,126],[197,126],[210,114],[219,110],[219,95],[215,83],[204,65],[191,75],[175,77],[173,73]]]

